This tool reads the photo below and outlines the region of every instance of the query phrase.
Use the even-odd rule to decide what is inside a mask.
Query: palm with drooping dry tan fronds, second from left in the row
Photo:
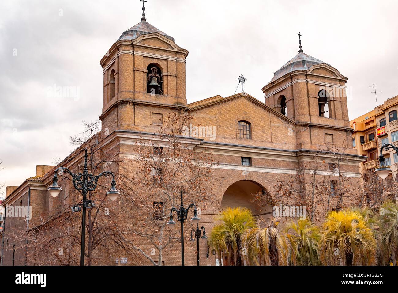
[[[264,226],[261,227],[261,224]],[[278,230],[279,220],[269,218],[258,220],[257,227],[246,231],[244,236],[245,254],[248,264],[287,265],[291,250],[287,234]]]

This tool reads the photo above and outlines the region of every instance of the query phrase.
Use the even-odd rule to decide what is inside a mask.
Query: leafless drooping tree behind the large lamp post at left
[[[98,175],[103,169],[120,170],[122,160],[115,156],[111,149],[101,146],[100,122],[83,122],[84,132],[71,138],[72,144],[78,146],[75,153],[88,150],[88,168],[90,173]],[[80,172],[81,164],[70,166],[74,173]],[[113,172],[116,177],[123,177]],[[73,187],[67,173],[58,173],[60,183],[64,185],[63,197],[54,201],[57,205],[50,210],[50,215],[29,222],[29,229],[14,229],[12,238],[20,243],[17,249],[27,249],[27,261],[35,265],[77,265],[80,258],[80,235],[82,214],[71,212],[70,207],[81,203],[80,191]],[[126,178],[124,178],[126,181]],[[109,190],[109,179],[101,178],[95,191],[88,193],[88,199],[95,203],[88,209],[86,219],[86,265],[106,264],[111,253],[119,250],[123,254],[134,255],[129,244],[125,242],[124,230],[121,228],[117,203],[105,197]],[[61,193],[62,195],[62,193]],[[23,220],[23,219],[21,219]],[[17,225],[23,227],[23,225]],[[26,227],[26,226],[25,226]],[[103,260],[103,258],[106,258]]]

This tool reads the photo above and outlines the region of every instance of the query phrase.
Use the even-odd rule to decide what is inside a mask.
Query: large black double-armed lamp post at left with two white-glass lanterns
[[[120,194],[120,192],[116,189],[116,181],[115,181],[115,176],[113,175],[112,172],[110,171],[104,171],[101,172],[99,175],[94,176],[92,174],[88,173],[88,168],[87,168],[87,148],[86,148],[86,153],[84,155],[84,169],[83,169],[83,174],[78,173],[74,174],[72,173],[68,168],[66,167],[59,167],[55,170],[55,175],[53,177],[53,185],[50,185],[47,190],[49,191],[50,195],[52,197],[57,197],[59,193],[62,191],[62,188],[58,185],[58,175],[57,171],[62,170],[66,171],[72,176],[72,182],[73,186],[76,190],[81,191],[83,195],[83,203],[77,204],[72,207],[72,212],[79,212],[80,210],[83,210],[82,212],[82,239],[81,239],[81,244],[80,244],[80,265],[84,265],[84,249],[85,249],[85,242],[86,242],[86,208],[93,208],[94,207],[94,202],[90,199],[87,199],[87,192],[88,191],[94,191],[97,187],[98,179],[100,179],[101,176],[109,177],[110,175],[112,176],[112,182],[111,182],[111,189],[106,193],[107,196],[112,201],[115,201],[117,199],[117,196]],[[80,207],[81,206],[81,207]]]

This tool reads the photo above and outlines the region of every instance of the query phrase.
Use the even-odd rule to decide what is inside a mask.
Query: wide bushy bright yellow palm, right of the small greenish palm
[[[359,212],[330,211],[320,231],[319,256],[325,265],[375,265],[377,240]],[[338,256],[336,260],[335,256]]]

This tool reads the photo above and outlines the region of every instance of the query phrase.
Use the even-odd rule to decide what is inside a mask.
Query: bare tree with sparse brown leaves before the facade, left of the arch
[[[170,114],[158,134],[140,137],[130,163],[134,182],[124,183],[133,215],[127,225],[134,235],[131,247],[153,265],[162,265],[164,250],[181,241],[178,228],[166,225],[171,208],[180,204],[179,194],[202,210],[214,202],[209,180],[214,162],[211,154],[195,151],[186,136],[191,119],[185,112]]]

